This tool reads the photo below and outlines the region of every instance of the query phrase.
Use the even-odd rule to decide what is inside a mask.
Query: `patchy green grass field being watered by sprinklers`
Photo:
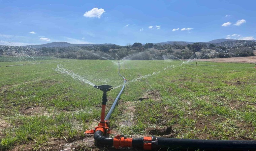
[[[67,59],[43,60],[54,61]],[[0,62],[0,149],[61,150],[71,142],[76,150],[94,148],[88,142],[93,138],[84,131],[99,122],[102,92],[87,83],[118,87],[108,92],[108,109],[123,84],[118,65],[69,59],[5,67],[25,63]],[[121,64],[128,84],[110,119],[111,128],[133,137],[256,140],[254,64],[195,64]]]

